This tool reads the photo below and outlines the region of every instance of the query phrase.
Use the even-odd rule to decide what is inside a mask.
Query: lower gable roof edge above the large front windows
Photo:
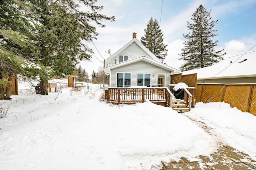
[[[160,61],[156,61],[156,60],[150,59],[149,57],[145,57],[145,56],[138,57],[138,58],[131,59],[131,60],[127,60],[127,61],[124,61],[124,62],[121,62],[121,63],[118,63],[118,64],[114,64],[114,65],[103,68],[103,70],[106,73],[110,73],[111,69],[118,68],[118,67],[121,67],[121,66],[124,66],[124,65],[127,65],[127,64],[131,64],[131,63],[136,63],[138,61],[145,61],[147,63],[153,64],[153,65],[158,66],[160,68],[164,68],[164,69],[169,70],[169,71],[174,71],[175,73],[180,72],[180,70],[178,70],[176,68],[173,68],[173,67],[168,66],[164,63],[161,63]]]

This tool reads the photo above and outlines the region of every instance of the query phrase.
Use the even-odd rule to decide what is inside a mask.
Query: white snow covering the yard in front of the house
[[[161,161],[209,155],[220,142],[256,160],[256,116],[225,103],[197,103],[180,114],[150,102],[100,102],[98,84],[74,91],[58,83],[46,96],[26,82],[18,87],[19,95],[0,101],[10,106],[0,119],[1,170],[156,170]],[[188,117],[214,128],[218,139]]]

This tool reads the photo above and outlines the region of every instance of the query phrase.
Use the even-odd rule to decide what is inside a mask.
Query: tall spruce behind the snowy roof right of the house
[[[180,67],[182,71],[211,66],[222,60],[222,56],[226,54],[222,54],[224,49],[214,50],[218,40],[214,41],[212,38],[218,34],[216,34],[217,30],[213,27],[218,20],[212,20],[211,11],[208,12],[204,6],[200,5],[196,12],[192,14],[191,19],[194,23],[187,22],[188,30],[192,32],[186,35],[183,34],[183,37],[188,40],[183,43],[184,48],[180,54],[182,56],[180,60],[185,62]]]

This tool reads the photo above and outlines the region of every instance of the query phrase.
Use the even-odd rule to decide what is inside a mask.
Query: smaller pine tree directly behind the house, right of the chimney
[[[166,49],[167,45],[163,43],[163,33],[158,21],[151,17],[144,31],[145,34],[144,37],[141,37],[141,43],[163,62],[168,50]]]

